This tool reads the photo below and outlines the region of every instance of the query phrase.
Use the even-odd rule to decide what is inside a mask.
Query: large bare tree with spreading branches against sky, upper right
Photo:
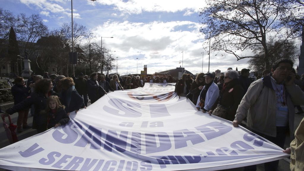
[[[281,43],[294,38],[294,30],[281,18],[288,3],[276,0],[210,0],[201,9],[201,32],[212,40],[211,50],[233,54],[237,60],[262,58],[270,68],[267,40]],[[293,9],[289,9],[293,10]],[[209,47],[209,44],[206,48]],[[240,51],[262,48],[264,56],[240,56]]]

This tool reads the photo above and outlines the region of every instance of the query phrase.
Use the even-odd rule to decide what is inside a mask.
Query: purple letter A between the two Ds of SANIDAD
[[[184,137],[184,134],[186,137]],[[175,149],[187,147],[187,141],[191,141],[193,145],[205,141],[199,134],[189,131],[188,129],[173,131],[173,136]]]

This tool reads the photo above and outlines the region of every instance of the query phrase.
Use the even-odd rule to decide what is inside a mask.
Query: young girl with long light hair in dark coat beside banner
[[[47,99],[47,104],[47,129],[64,125],[70,120],[58,96],[50,96]]]

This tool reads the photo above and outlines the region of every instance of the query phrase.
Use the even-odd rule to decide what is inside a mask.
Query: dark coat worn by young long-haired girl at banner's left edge
[[[58,108],[56,113],[53,113],[52,110],[50,110],[47,116],[47,129],[54,127],[58,123],[65,125],[70,120],[70,117],[67,115],[63,108]]]

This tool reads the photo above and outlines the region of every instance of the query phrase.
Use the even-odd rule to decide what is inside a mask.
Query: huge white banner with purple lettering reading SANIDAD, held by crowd
[[[115,91],[68,124],[0,149],[9,170],[220,170],[282,159],[273,143],[196,110],[174,85]]]

